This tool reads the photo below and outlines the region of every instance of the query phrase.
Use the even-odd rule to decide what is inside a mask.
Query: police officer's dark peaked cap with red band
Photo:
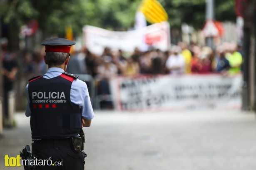
[[[43,41],[41,45],[45,46],[45,52],[70,53],[70,48],[75,45],[75,41],[64,38],[53,38]]]

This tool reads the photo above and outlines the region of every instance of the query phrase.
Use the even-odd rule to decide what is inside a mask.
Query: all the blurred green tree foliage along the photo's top
[[[45,36],[65,35],[65,27],[72,25],[75,35],[82,34],[86,24],[104,29],[127,30],[134,25],[134,17],[142,0],[1,0],[2,22],[20,27],[30,19],[37,19]],[[201,29],[205,22],[206,0],[159,0],[169,15],[171,27],[187,23]],[[232,20],[235,0],[215,0],[215,18]]]

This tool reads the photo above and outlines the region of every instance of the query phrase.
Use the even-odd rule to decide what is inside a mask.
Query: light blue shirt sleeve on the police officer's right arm
[[[94,112],[85,82],[78,79],[73,81],[70,90],[70,100],[82,108],[82,117],[87,120],[94,118]]]

